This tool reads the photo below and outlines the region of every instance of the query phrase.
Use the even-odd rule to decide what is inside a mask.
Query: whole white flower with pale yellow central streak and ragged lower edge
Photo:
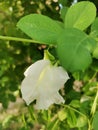
[[[69,76],[62,67],[52,66],[49,60],[39,60],[24,75],[21,92],[27,105],[36,100],[36,109],[48,109],[53,103],[64,103],[58,91]]]

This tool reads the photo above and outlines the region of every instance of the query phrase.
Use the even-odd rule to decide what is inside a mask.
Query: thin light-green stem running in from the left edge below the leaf
[[[39,42],[39,41],[31,40],[31,39],[17,38],[17,37],[0,36],[0,39],[7,40],[7,41],[19,41],[19,42],[45,44],[43,42]]]

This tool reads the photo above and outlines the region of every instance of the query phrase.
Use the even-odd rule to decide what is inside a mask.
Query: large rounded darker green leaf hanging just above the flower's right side
[[[95,41],[89,40],[84,32],[73,28],[66,29],[57,42],[57,54],[66,70],[70,72],[85,70],[91,64],[90,52],[95,46]]]

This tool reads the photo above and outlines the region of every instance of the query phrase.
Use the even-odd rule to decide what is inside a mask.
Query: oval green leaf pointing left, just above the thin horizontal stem
[[[24,16],[17,26],[29,37],[45,44],[55,44],[58,35],[62,32],[62,27],[57,21],[41,14]]]

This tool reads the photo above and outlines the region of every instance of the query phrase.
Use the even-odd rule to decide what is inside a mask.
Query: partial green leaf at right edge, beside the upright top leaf
[[[98,37],[98,17],[94,20],[93,24],[91,25],[90,35],[94,38]]]

